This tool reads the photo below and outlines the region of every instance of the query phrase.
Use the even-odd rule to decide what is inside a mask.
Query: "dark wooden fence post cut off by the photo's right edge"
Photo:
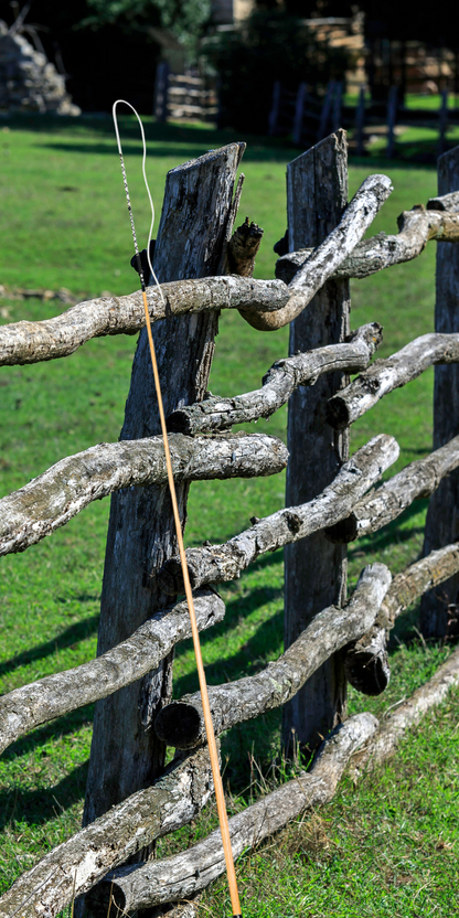
[[[459,191],[459,147],[438,160],[438,193]],[[435,331],[459,331],[459,246],[437,243]],[[459,434],[459,365],[435,367],[434,449]],[[445,478],[430,498],[424,554],[459,538],[459,472]],[[457,600],[459,575],[423,597],[420,623],[426,638],[444,638],[448,605]]]

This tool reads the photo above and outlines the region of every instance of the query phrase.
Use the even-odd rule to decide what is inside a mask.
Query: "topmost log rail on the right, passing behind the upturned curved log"
[[[449,195],[447,195],[449,196]],[[430,202],[427,204],[429,207]],[[386,236],[377,233],[370,239],[362,239],[348,257],[334,269],[333,278],[370,277],[376,271],[402,265],[417,258],[430,239],[459,242],[459,213],[425,210],[421,204],[412,211],[404,211],[398,217],[398,235]],[[301,266],[311,257],[313,249],[303,248],[284,255],[276,264],[276,277],[291,284]]]

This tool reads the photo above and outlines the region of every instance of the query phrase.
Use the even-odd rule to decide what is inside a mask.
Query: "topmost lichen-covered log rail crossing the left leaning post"
[[[290,292],[281,280],[245,277],[204,277],[173,280],[147,288],[151,322],[172,316],[252,309],[281,309]],[[61,316],[40,322],[13,322],[0,328],[0,365],[38,363],[73,354],[92,338],[137,334],[145,328],[140,291],[126,297],[102,297],[81,302]]]

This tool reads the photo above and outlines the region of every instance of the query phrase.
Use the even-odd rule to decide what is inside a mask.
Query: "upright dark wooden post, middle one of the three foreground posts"
[[[287,170],[289,250],[317,246],[334,228],[348,203],[348,145],[343,130],[293,160]],[[342,341],[349,331],[348,280],[331,280],[290,327],[289,353]],[[342,385],[342,374],[322,376],[298,388],[289,403],[287,506],[314,498],[348,457],[348,431],[325,423],[327,399]],[[285,645],[289,647],[313,615],[345,597],[346,554],[322,533],[285,549]],[[285,707],[284,743],[291,730],[314,749],[343,716],[345,679],[334,654]]]

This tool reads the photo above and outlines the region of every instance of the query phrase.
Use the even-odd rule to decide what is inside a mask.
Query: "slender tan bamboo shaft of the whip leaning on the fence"
[[[151,365],[152,365],[152,369],[153,369],[153,376],[154,376],[154,387],[156,387],[156,391],[157,391],[157,398],[158,398],[159,417],[160,417],[160,421],[161,421],[161,431],[162,431],[162,437],[163,437],[163,441],[164,441],[166,466],[167,466],[167,469],[168,469],[168,480],[169,480],[169,488],[170,488],[170,492],[171,492],[172,512],[173,512],[173,519],[174,519],[174,522],[175,522],[177,541],[179,543],[179,554],[180,554],[180,561],[181,561],[182,570],[183,570],[183,583],[184,583],[184,587],[185,587],[186,602],[188,602],[188,608],[189,608],[189,612],[190,612],[191,633],[192,633],[192,638],[193,638],[194,655],[196,658],[196,669],[198,669],[198,676],[199,676],[199,681],[200,681],[202,708],[203,708],[203,715],[204,715],[205,732],[206,732],[206,735],[207,735],[209,756],[210,756],[210,759],[211,759],[212,775],[213,775],[213,779],[214,779],[216,809],[217,809],[217,813],[218,813],[220,830],[221,830],[221,833],[222,833],[223,852],[224,852],[224,855],[225,855],[225,864],[226,864],[226,873],[227,873],[227,877],[228,877],[228,887],[230,887],[231,904],[232,904],[232,909],[233,909],[233,918],[242,918],[239,893],[238,893],[238,889],[237,889],[236,871],[234,868],[233,850],[232,850],[232,846],[231,846],[228,816],[227,816],[227,813],[226,813],[226,805],[225,805],[225,794],[224,794],[224,790],[223,790],[222,776],[220,773],[218,754],[217,754],[216,743],[215,743],[214,725],[212,723],[211,706],[209,704],[207,683],[205,681],[204,665],[203,665],[203,662],[202,662],[201,643],[200,643],[200,636],[199,636],[198,623],[196,623],[196,615],[195,615],[195,611],[194,611],[193,594],[192,594],[192,590],[191,590],[190,575],[188,573],[185,548],[184,548],[184,545],[183,545],[182,525],[181,525],[181,522],[180,522],[179,506],[178,506],[178,503],[177,503],[175,483],[174,483],[174,480],[173,480],[171,456],[170,456],[170,451],[169,451],[168,431],[166,429],[164,408],[163,408],[163,405],[162,405],[162,395],[161,395],[161,386],[160,386],[160,381],[159,381],[157,357],[156,357],[156,352],[154,352],[154,342],[153,342],[153,335],[151,333],[150,313],[149,313],[149,309],[148,309],[148,300],[147,300],[147,293],[146,293],[145,289],[142,289],[142,297],[143,297],[143,309],[145,309],[145,319],[146,319],[146,324],[147,324],[148,342],[149,342],[149,345],[150,345]]]

